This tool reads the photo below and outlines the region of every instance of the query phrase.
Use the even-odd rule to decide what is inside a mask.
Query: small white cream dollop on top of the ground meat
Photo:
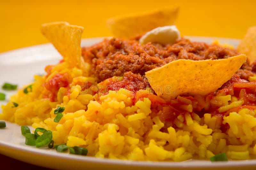
[[[139,43],[140,45],[147,44],[148,42],[155,42],[162,45],[173,44],[176,40],[180,39],[180,32],[176,25],[168,25],[157,27],[145,35],[143,35]]]

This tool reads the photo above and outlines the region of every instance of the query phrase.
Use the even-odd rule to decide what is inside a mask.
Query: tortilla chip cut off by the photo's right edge
[[[246,54],[247,62],[250,64],[256,60],[256,26],[252,26],[247,30],[237,50],[239,53]]]

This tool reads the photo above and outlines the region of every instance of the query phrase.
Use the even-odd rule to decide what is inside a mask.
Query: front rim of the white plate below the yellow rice
[[[11,123],[11,122],[9,122]],[[14,124],[14,123],[12,123]],[[4,146],[4,148],[12,148],[17,151],[26,152],[26,153],[34,153],[44,156],[51,156],[51,158],[55,159],[63,159],[63,160],[76,160],[83,163],[97,163],[97,164],[108,164],[115,166],[137,166],[137,167],[162,167],[162,168],[177,168],[177,167],[190,167],[190,168],[206,168],[206,167],[235,167],[235,166],[255,166],[256,159],[249,160],[229,160],[223,162],[211,162],[210,160],[199,160],[193,159],[196,161],[201,161],[200,165],[197,165],[197,162],[189,162],[190,160],[182,161],[182,162],[174,162],[174,161],[133,161],[133,160],[122,160],[122,159],[109,159],[109,158],[96,158],[92,156],[80,156],[80,155],[72,155],[68,156],[68,153],[59,153],[59,152],[40,152],[39,150],[43,150],[41,148],[26,146],[26,145],[15,145],[9,144],[4,141],[0,141],[0,146]],[[30,148],[30,149],[27,149]],[[32,149],[33,148],[33,149]],[[38,150],[38,151],[37,151]],[[52,154],[54,153],[54,154]],[[186,164],[184,164],[186,162]],[[246,163],[246,164],[245,164]]]

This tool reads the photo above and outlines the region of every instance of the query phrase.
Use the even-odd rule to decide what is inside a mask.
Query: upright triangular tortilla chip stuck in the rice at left
[[[67,22],[43,24],[41,32],[55,46],[71,67],[81,63],[81,38],[84,28]]]

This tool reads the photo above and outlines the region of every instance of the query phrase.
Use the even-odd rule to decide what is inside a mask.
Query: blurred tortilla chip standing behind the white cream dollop
[[[156,27],[174,25],[179,7],[166,7],[155,11],[110,18],[107,26],[117,38],[131,38]]]

